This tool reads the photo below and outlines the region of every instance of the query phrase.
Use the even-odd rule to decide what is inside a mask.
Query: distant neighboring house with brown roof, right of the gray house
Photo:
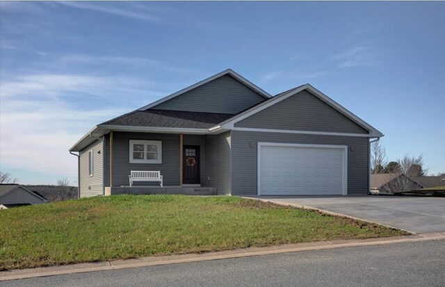
[[[425,186],[403,173],[378,173],[371,175],[370,187],[371,193],[392,194],[397,191],[423,189]]]

